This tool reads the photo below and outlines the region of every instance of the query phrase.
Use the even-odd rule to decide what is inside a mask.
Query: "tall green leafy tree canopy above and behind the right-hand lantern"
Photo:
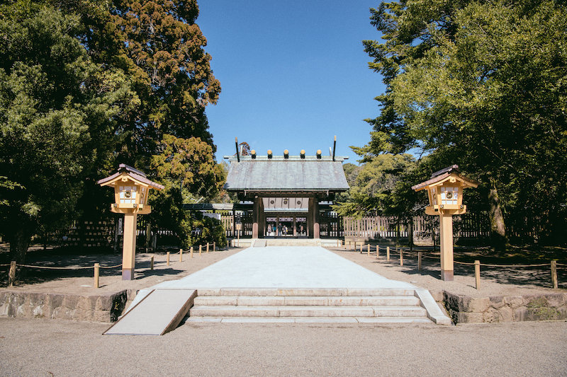
[[[567,11],[557,1],[410,0],[371,9],[364,41],[386,93],[374,153],[418,148],[483,183],[495,245],[507,219],[544,216],[560,234],[567,199]],[[436,166],[437,165],[437,166]],[[544,226],[545,228],[545,226]]]

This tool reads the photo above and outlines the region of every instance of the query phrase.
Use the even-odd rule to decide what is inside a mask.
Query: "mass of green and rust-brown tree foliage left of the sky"
[[[117,163],[164,183],[169,212],[218,194],[205,108],[220,84],[195,0],[16,0],[0,16],[0,232],[19,261],[38,230],[100,214],[95,182]]]

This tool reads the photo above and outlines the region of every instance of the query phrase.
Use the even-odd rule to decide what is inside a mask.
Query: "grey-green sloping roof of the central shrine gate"
[[[349,189],[340,161],[332,161],[330,158],[246,157],[242,156],[240,162],[231,159],[225,184],[226,190],[346,191]]]

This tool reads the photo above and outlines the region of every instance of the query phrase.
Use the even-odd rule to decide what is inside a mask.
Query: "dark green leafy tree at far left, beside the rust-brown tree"
[[[78,16],[28,1],[0,13],[0,232],[23,262],[35,232],[76,216],[135,95],[120,71],[91,61]]]

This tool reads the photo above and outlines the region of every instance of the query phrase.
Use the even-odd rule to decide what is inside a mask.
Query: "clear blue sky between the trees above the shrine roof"
[[[259,154],[357,155],[378,115],[381,76],[368,68],[362,40],[378,40],[369,8],[378,0],[200,0],[197,19],[222,92],[207,108],[217,161],[235,137]]]

